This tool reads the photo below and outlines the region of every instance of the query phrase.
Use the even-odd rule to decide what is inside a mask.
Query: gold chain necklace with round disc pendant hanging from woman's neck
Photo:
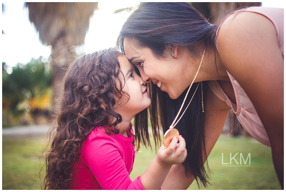
[[[180,107],[180,109],[179,109],[179,112],[177,113],[177,115],[176,115],[176,117],[175,117],[173,123],[170,125],[169,129],[168,129],[168,130],[166,131],[166,133],[164,134],[164,141],[163,141],[163,143],[164,143],[165,147],[168,147],[168,146],[169,146],[169,144],[171,143],[173,137],[175,137],[175,136],[179,137],[179,135],[180,135],[178,129],[175,129],[174,127],[175,127],[175,126],[177,125],[177,123],[181,120],[181,118],[182,118],[182,116],[184,115],[185,111],[186,111],[187,108],[189,107],[189,105],[190,105],[190,103],[191,103],[191,101],[192,101],[192,99],[193,99],[193,97],[194,97],[194,94],[196,93],[197,88],[199,87],[200,83],[197,85],[197,88],[196,88],[196,90],[195,90],[195,92],[194,92],[194,94],[193,94],[193,96],[192,96],[192,98],[191,98],[191,101],[189,102],[188,106],[186,107],[186,109],[185,109],[184,112],[182,113],[181,117],[178,119],[177,122],[176,122],[176,120],[177,120],[179,114],[181,113],[181,110],[182,110],[182,108],[183,108],[183,106],[184,106],[184,104],[185,104],[185,101],[186,101],[187,97],[188,97],[189,91],[190,91],[190,89],[191,89],[191,87],[192,87],[192,85],[193,85],[193,83],[194,83],[194,80],[195,80],[196,77],[197,77],[197,74],[199,73],[199,70],[200,70],[200,68],[201,68],[201,64],[202,64],[202,62],[203,62],[203,58],[204,58],[204,54],[205,54],[206,48],[207,48],[207,46],[205,46],[204,53],[203,53],[203,56],[202,56],[202,59],[201,59],[201,63],[200,63],[200,65],[199,65],[199,68],[197,69],[196,75],[194,76],[193,82],[192,82],[191,85],[189,86],[189,89],[188,89],[187,94],[186,94],[186,96],[185,96],[185,98],[184,98],[184,101],[183,101],[183,103],[182,103],[182,105],[181,105],[181,107]]]

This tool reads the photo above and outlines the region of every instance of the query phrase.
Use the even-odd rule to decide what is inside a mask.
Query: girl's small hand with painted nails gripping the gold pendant
[[[167,148],[165,145],[162,145],[157,153],[158,162],[162,166],[183,163],[186,157],[186,142],[182,135],[180,135],[179,138],[174,137]]]

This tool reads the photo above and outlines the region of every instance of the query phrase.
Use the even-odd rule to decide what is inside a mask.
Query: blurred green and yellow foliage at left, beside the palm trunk
[[[37,124],[39,116],[48,115],[53,90],[52,71],[47,61],[39,57],[13,68],[2,63],[2,127]]]

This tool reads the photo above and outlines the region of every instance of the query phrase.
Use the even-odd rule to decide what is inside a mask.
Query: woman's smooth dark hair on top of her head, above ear
[[[140,3],[123,24],[117,46],[124,54],[123,40],[131,38],[138,46],[150,48],[157,57],[164,57],[166,48],[174,45],[201,57],[205,45],[214,47],[215,29],[216,25],[188,3]]]

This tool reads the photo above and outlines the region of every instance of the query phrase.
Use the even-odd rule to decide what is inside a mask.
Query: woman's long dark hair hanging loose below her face
[[[192,85],[182,111],[184,111],[188,105],[198,83],[200,82]],[[207,82],[202,82],[202,84],[204,91],[206,90]],[[177,99],[171,99],[168,93],[161,91],[157,85],[148,84],[148,86],[151,90],[151,105],[149,109],[152,129],[159,130],[160,127],[162,127],[163,132],[166,132],[175,119],[179,108],[183,103],[187,89]],[[204,95],[204,106],[205,102],[206,96]],[[182,112],[180,115],[181,114]],[[191,173],[196,179],[199,187],[201,184],[206,187],[209,183],[207,179],[209,178],[208,172],[210,170],[207,162],[204,165],[203,160],[207,159],[205,150],[204,119],[205,113],[202,111],[201,85],[199,85],[191,104],[175,127],[179,130],[180,135],[182,135],[186,141],[188,155],[185,161],[182,163],[182,165],[185,167],[185,175],[188,177]]]

